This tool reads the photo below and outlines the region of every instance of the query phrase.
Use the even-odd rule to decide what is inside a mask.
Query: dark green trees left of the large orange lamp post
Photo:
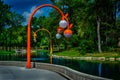
[[[11,50],[12,46],[17,46],[18,43],[20,46],[23,41],[20,34],[25,32],[22,31],[21,33],[24,18],[20,14],[10,11],[11,7],[9,5],[4,4],[2,1],[0,1],[0,4],[0,46],[5,47],[6,50],[10,47]]]

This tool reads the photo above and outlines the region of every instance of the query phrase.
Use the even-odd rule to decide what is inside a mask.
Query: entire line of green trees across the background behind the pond
[[[39,28],[48,29],[52,34],[53,45],[63,45],[66,49],[76,48],[80,53],[113,51],[118,48],[120,37],[120,1],[119,0],[51,0],[73,23],[73,35],[70,39],[56,39],[60,14],[51,9],[49,16],[33,17],[31,23],[31,45],[49,46],[49,34],[37,33],[37,42],[33,32]],[[27,25],[22,25],[25,18],[10,11],[10,6],[0,1],[0,46],[26,47]]]

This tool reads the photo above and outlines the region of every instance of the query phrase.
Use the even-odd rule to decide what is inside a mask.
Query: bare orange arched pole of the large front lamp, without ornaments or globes
[[[52,7],[54,9],[56,9],[60,15],[61,15],[61,19],[64,20],[64,13],[56,6],[54,5],[51,5],[51,4],[44,4],[44,5],[41,5],[41,6],[38,6],[37,8],[34,9],[34,11],[32,12],[32,14],[30,15],[30,18],[28,20],[28,32],[27,32],[27,64],[26,64],[26,68],[31,68],[31,61],[30,61],[30,58],[31,58],[31,54],[30,54],[30,49],[31,49],[31,46],[30,46],[30,32],[31,32],[31,26],[30,26],[30,23],[32,21],[32,17],[33,15],[37,12],[37,10],[39,10],[40,8],[43,8],[43,7]]]

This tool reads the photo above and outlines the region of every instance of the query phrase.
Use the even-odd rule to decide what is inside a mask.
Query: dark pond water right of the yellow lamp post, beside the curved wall
[[[83,73],[110,78],[114,80],[120,80],[120,62],[90,62],[54,58],[53,63],[68,66]]]

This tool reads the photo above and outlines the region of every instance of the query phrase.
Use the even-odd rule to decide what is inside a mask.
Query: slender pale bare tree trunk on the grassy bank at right
[[[100,18],[97,19],[97,37],[98,37],[98,51],[99,53],[102,53],[101,50],[101,39],[100,39]]]

